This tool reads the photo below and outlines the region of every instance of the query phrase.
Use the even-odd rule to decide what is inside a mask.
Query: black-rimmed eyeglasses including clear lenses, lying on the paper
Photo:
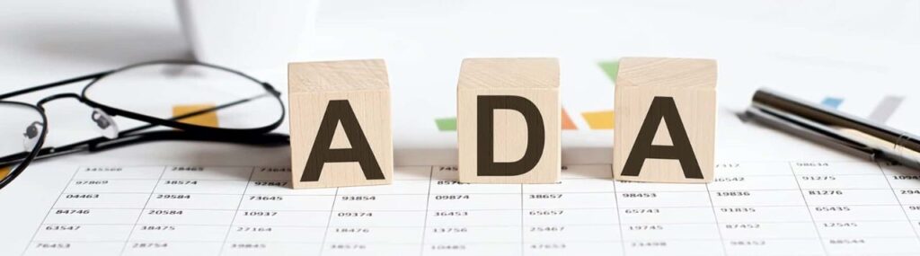
[[[6,100],[86,81],[80,94],[55,94],[34,105]],[[163,140],[288,145],[287,134],[270,133],[284,119],[280,96],[270,84],[241,72],[191,61],[132,64],[6,93],[0,95],[0,168],[9,172],[0,180],[0,189],[32,160],[77,152]],[[46,147],[50,123],[45,106],[57,99],[76,99],[91,108],[89,119],[102,136]],[[120,130],[115,116],[142,124]]]

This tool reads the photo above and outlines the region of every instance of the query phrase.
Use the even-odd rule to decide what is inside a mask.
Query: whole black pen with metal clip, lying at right
[[[847,153],[920,169],[920,137],[773,90],[754,93],[745,114],[789,134]]]

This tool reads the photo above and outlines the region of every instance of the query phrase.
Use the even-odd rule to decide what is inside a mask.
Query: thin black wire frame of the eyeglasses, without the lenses
[[[117,74],[121,71],[131,69],[138,66],[149,65],[149,64],[187,64],[187,65],[201,65],[209,68],[215,68],[222,70],[224,72],[229,72],[231,74],[242,76],[248,80],[260,85],[266,90],[266,93],[274,97],[281,108],[281,115],[279,115],[278,120],[270,123],[266,126],[261,126],[257,128],[246,128],[246,129],[237,129],[237,128],[219,128],[219,127],[210,127],[202,126],[196,124],[190,124],[186,122],[178,122],[191,116],[199,115],[206,112],[218,111],[227,107],[232,107],[236,104],[245,103],[248,100],[257,99],[263,97],[264,95],[259,95],[255,98],[239,99],[221,106],[216,106],[213,108],[192,111],[183,115],[179,115],[170,119],[156,118],[149,115],[144,115],[132,111],[125,111],[119,108],[110,107],[108,105],[99,103],[92,99],[86,98],[86,90],[89,87],[95,85],[99,80],[109,76],[111,74]],[[83,82],[89,80],[89,83],[83,87],[80,94],[76,93],[60,93],[54,94],[52,96],[45,97],[40,99],[35,104],[29,104],[18,101],[9,101],[4,100],[12,97],[17,97],[24,94],[29,94],[32,92],[37,92],[44,89],[49,89],[52,87],[61,87],[65,85],[71,85],[77,82]],[[69,145],[62,145],[58,147],[43,147],[45,143],[46,136],[48,134],[48,116],[45,113],[44,104],[56,99],[65,99],[72,98],[77,99],[86,106],[109,114],[109,116],[122,116],[128,119],[146,122],[147,124],[134,127],[132,129],[120,131],[118,137],[108,138],[105,136],[99,136],[96,138],[90,138],[80,142],[75,142]],[[74,78],[64,79],[58,82],[53,82],[45,85],[28,87],[24,89],[15,90],[9,93],[0,95],[0,104],[12,104],[19,107],[27,107],[32,109],[40,114],[41,116],[41,134],[36,141],[34,148],[32,148],[29,153],[24,157],[17,157],[23,153],[12,154],[9,156],[0,156],[0,167],[18,164],[15,169],[10,169],[6,177],[0,179],[0,189],[3,189],[7,184],[15,180],[23,170],[29,167],[29,164],[35,159],[45,159],[50,157],[58,157],[63,155],[68,155],[76,152],[98,152],[103,150],[108,150],[115,147],[121,147],[125,145],[133,145],[138,143],[150,142],[150,141],[165,141],[165,140],[178,140],[178,141],[210,141],[210,142],[224,142],[224,143],[236,143],[244,145],[289,145],[290,136],[287,134],[272,134],[271,131],[275,130],[281,126],[284,116],[286,114],[284,109],[284,103],[281,99],[281,92],[272,87],[267,82],[262,82],[256,79],[255,77],[248,76],[240,71],[236,71],[227,67],[215,65],[215,64],[205,64],[196,61],[187,61],[187,60],[157,60],[149,61],[137,64],[130,64],[122,66],[117,69],[112,69],[109,71],[103,71],[95,74],[90,74],[86,76],[77,76]],[[178,129],[178,131],[150,131],[144,133],[135,134],[135,132],[143,131],[150,129],[156,126],[167,126],[171,128]],[[108,143],[108,144],[107,144]],[[63,150],[57,150],[63,149]],[[14,158],[14,160],[4,159],[6,157]]]

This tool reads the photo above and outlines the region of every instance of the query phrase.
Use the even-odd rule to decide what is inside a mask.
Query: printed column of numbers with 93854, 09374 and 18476
[[[431,167],[397,167],[393,184],[339,188],[323,255],[418,255]]]

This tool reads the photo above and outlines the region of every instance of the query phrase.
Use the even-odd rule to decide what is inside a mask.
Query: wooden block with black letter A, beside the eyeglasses
[[[382,60],[288,64],[293,188],[389,184],[390,88]]]

